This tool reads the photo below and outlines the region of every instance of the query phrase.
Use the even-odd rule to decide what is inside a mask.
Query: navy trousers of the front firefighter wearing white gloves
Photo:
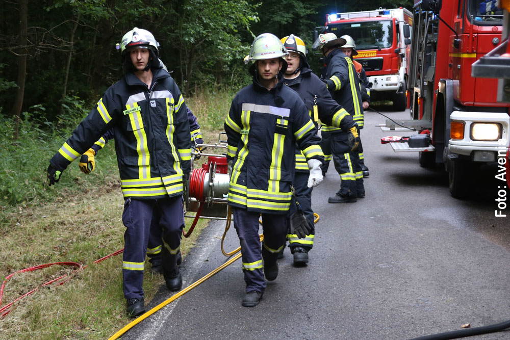
[[[264,241],[259,238],[259,218],[261,213],[249,212],[246,208],[232,207],[234,213],[234,227],[239,236],[243,261],[244,281],[246,293],[266,290],[266,281],[262,268],[264,263],[272,265],[278,258],[278,253],[285,245],[287,234],[286,216],[284,214],[262,213],[262,229]],[[264,262],[263,262],[264,260]]]

